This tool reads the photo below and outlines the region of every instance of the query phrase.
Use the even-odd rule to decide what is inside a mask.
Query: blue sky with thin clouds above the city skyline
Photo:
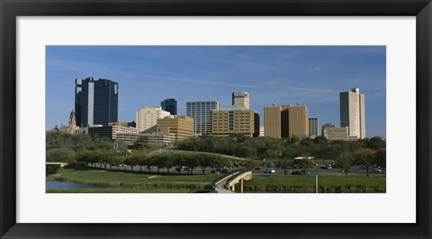
[[[119,83],[119,120],[135,120],[143,105],[177,100],[231,104],[250,94],[263,125],[264,106],[301,102],[320,125],[339,126],[339,93],[365,93],[366,137],[385,135],[384,46],[47,46],[46,128],[67,124],[75,79]]]

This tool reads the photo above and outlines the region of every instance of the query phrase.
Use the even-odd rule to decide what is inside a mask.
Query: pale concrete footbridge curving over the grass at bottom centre
[[[240,192],[243,193],[243,181],[251,180],[252,172],[249,170],[238,170],[222,175],[213,182],[213,187],[218,193],[234,193],[235,185],[240,183]]]

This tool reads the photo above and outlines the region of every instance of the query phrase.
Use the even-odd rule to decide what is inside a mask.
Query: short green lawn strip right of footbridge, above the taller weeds
[[[318,176],[318,184],[323,187],[385,187],[385,176]],[[251,181],[245,181],[247,186],[277,185],[277,186],[304,186],[314,187],[315,176],[253,176]]]

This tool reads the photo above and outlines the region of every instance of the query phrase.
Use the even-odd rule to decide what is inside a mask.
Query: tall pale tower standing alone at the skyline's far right
[[[350,138],[365,138],[365,94],[353,88],[350,92],[339,93],[340,127],[348,127]]]

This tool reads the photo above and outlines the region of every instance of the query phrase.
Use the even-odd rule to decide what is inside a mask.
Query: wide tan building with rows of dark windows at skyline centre
[[[259,113],[234,104],[230,108],[211,111],[211,134],[216,137],[230,135],[259,136]]]

